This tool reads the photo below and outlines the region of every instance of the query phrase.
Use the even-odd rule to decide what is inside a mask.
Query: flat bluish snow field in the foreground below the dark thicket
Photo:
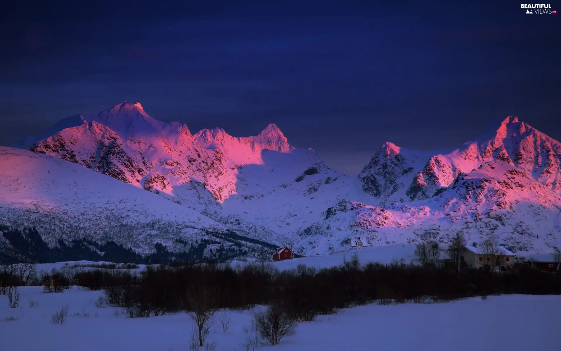
[[[95,306],[102,291],[73,287],[44,294],[23,287],[19,308],[8,308],[0,296],[0,349],[160,351],[188,350],[192,321],[184,313],[127,318],[118,308]],[[38,303],[30,307],[30,301]],[[51,316],[68,304],[70,317],[62,325]],[[264,350],[540,350],[561,348],[558,317],[561,296],[505,295],[451,303],[355,307],[314,322],[299,323],[295,335]],[[74,316],[77,314],[76,316]],[[17,317],[6,321],[6,317]],[[231,332],[217,321],[209,342],[215,350],[242,350],[251,313],[232,312]],[[201,348],[203,350],[204,348]]]

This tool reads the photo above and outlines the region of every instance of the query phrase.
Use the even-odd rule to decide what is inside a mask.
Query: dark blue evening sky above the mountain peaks
[[[512,1],[46,3],[0,9],[0,144],[123,100],[193,133],[275,123],[353,174],[508,115],[561,139],[561,16]]]

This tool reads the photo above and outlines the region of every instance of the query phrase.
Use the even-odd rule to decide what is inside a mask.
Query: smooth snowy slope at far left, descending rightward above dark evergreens
[[[114,240],[137,252],[181,250],[224,226],[187,206],[58,158],[0,147],[0,222],[58,239]],[[54,235],[53,235],[54,234]]]

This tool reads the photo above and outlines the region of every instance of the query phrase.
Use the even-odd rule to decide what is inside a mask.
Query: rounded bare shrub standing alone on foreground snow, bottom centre
[[[265,312],[255,312],[255,325],[261,338],[277,345],[286,335],[296,332],[296,322],[277,304],[270,305]]]

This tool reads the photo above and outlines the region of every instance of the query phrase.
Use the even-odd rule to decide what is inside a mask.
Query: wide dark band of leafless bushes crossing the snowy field
[[[492,294],[561,294],[559,275],[528,267],[502,274],[465,270],[458,275],[445,267],[398,263],[361,267],[356,257],[342,266],[321,270],[210,264],[149,267],[142,275],[86,271],[76,275],[75,284],[105,289],[108,302],[127,308],[131,317],[188,311],[186,297],[195,294],[215,296],[216,308],[275,304],[298,321],[376,301],[422,303]]]

